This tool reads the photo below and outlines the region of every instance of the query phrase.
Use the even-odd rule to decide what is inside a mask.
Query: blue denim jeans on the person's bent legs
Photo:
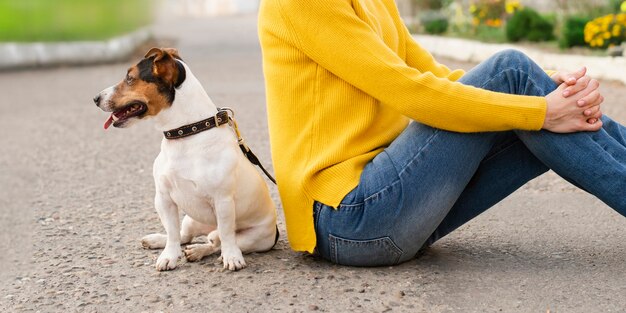
[[[504,51],[460,82],[545,96],[557,86],[524,54]],[[383,266],[413,258],[548,169],[626,216],[626,128],[598,132],[455,133],[412,122],[369,162],[337,208],[314,203],[317,252],[333,263]]]

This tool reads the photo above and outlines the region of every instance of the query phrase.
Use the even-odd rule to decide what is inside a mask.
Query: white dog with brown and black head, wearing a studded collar
[[[101,91],[94,102],[112,112],[105,129],[152,118],[157,129],[164,131],[153,175],[154,204],[167,234],[141,240],[145,248],[164,248],[157,270],[176,268],[182,256],[180,245],[201,235],[207,235],[207,243],[187,246],[187,259],[200,260],[221,250],[224,268],[230,270],[246,266],[242,253],[274,246],[276,209],[267,185],[242,154],[228,116],[218,114],[175,49],[152,48],[120,83]],[[194,123],[207,118],[203,123],[213,127],[197,131],[204,124]],[[168,130],[183,125],[189,125],[185,131],[197,133],[168,139]],[[182,130],[176,132],[182,134]],[[186,214],[182,228],[179,210]]]

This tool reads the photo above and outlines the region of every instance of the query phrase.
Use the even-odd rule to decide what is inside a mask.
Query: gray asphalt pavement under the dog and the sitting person
[[[213,100],[270,165],[254,16],[165,21]],[[277,247],[223,272],[158,273],[151,125],[102,130],[91,98],[131,62],[0,73],[1,312],[626,312],[626,219],[549,173],[416,260],[349,268]],[[468,64],[444,61],[454,67]],[[604,83],[626,122],[626,88]],[[271,171],[271,165],[270,171]],[[280,204],[276,189],[272,196]]]

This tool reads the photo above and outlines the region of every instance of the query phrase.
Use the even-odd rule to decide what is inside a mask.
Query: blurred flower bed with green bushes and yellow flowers
[[[434,35],[600,55],[621,55],[626,39],[623,0],[398,0],[398,5],[413,31]]]

